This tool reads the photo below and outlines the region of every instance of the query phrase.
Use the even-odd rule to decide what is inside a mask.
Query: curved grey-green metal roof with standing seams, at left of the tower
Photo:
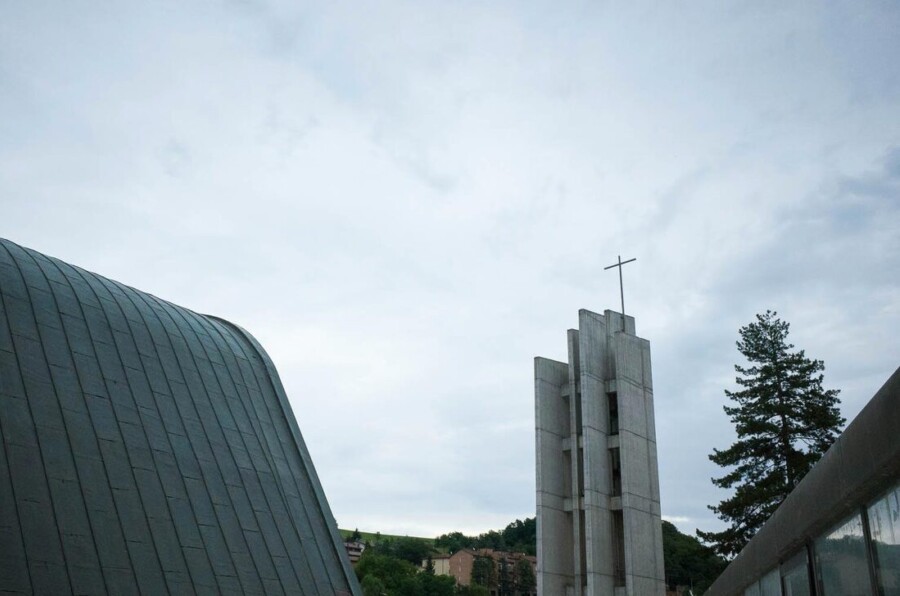
[[[0,240],[0,590],[358,594],[239,327]]]

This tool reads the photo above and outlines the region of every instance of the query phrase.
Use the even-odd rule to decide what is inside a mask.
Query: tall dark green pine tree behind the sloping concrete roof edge
[[[844,419],[838,390],[822,387],[821,360],[791,351],[790,325],[766,311],[740,329],[738,351],[749,367],[735,365],[740,391],[725,391],[725,406],[738,440],[713,449],[709,458],[732,468],[712,482],[734,494],[709,508],[730,524],[721,532],[697,535],[725,556],[741,551],[837,437]]]

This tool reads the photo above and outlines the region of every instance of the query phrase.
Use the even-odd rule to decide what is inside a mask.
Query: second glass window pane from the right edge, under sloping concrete
[[[862,517],[842,522],[815,543],[816,577],[822,596],[870,596]]]

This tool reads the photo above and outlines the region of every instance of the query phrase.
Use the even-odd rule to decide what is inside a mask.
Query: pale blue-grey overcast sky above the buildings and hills
[[[900,364],[900,5],[0,0],[0,235],[248,329],[341,527],[534,515],[533,357],[650,340],[720,527],[737,330]]]

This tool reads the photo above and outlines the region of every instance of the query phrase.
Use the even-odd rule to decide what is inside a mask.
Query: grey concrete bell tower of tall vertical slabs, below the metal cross
[[[661,596],[650,343],[580,310],[568,360],[535,358],[538,594]]]

